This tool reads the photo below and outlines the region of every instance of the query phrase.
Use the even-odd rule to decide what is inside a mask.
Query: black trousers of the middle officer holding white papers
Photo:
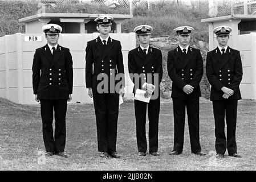
[[[149,103],[134,100],[135,118],[136,118],[136,137],[139,152],[147,151],[146,138],[146,113],[148,106],[149,120],[149,152],[157,152],[158,150],[158,131],[159,131],[159,112],[160,97],[156,100],[150,100]]]

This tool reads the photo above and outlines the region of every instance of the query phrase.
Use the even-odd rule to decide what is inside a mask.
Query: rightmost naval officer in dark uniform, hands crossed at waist
[[[215,148],[218,158],[230,156],[241,158],[237,154],[235,128],[237,124],[237,101],[241,99],[239,85],[243,70],[239,51],[227,45],[231,27],[214,28],[218,47],[208,52],[206,57],[206,76],[210,82],[210,100],[213,102],[215,121]],[[227,137],[225,136],[225,116]]]

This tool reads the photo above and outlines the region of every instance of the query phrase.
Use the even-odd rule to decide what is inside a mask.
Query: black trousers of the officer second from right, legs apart
[[[201,151],[199,138],[199,97],[172,98],[174,115],[173,150],[182,153],[184,144],[185,109],[188,114],[189,138],[192,153]]]

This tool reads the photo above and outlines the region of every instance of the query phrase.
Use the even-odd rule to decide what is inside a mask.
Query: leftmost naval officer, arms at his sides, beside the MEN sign
[[[70,49],[58,44],[62,27],[46,24],[42,27],[47,44],[36,49],[32,64],[32,85],[35,100],[40,101],[43,122],[43,141],[46,156],[57,154],[67,158],[66,144],[67,101],[72,100],[73,62]],[[52,121],[55,118],[53,135]]]

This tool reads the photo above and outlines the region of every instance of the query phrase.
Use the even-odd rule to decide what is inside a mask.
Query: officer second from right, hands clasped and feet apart
[[[199,49],[189,46],[190,34],[194,28],[181,26],[174,29],[178,36],[178,47],[168,52],[168,75],[172,80],[172,100],[174,115],[174,146],[170,155],[182,153],[184,144],[185,109],[188,115],[191,151],[201,152],[199,138],[199,83],[204,67]]]

